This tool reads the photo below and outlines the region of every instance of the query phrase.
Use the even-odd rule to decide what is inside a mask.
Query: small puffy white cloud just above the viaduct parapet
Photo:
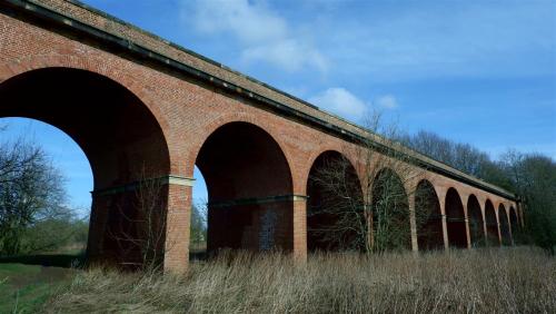
[[[309,102],[341,117],[360,120],[367,111],[367,105],[341,87],[328,88],[309,98]]]

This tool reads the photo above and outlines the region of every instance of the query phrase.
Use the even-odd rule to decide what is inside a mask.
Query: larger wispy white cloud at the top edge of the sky
[[[196,0],[181,3],[182,19],[192,23],[197,31],[237,38],[244,62],[268,62],[287,71],[304,67],[321,72],[327,70],[322,53],[302,36],[292,36],[287,21],[266,7],[265,2]]]

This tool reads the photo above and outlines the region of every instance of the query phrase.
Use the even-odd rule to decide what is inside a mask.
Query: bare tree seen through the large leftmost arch
[[[0,255],[22,252],[26,230],[68,214],[63,177],[36,144],[0,143]]]

